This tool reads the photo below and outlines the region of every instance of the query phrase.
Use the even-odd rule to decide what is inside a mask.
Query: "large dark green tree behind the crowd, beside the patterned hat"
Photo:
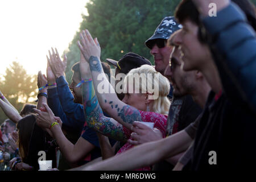
[[[134,52],[146,57],[153,63],[150,50],[144,42],[154,33],[155,28],[165,16],[174,15],[180,0],[92,0],[86,5],[88,16],[82,15],[80,31],[85,28],[101,45],[101,60],[119,60],[125,53]],[[70,82],[71,67],[80,59],[77,47],[79,32],[69,49],[66,77]]]

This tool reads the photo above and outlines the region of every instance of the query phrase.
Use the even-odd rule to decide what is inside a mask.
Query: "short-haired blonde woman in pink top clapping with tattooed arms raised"
[[[79,48],[87,61],[80,63],[80,72],[82,78],[86,80],[82,85],[82,94],[88,126],[108,137],[127,142],[134,121],[154,122],[154,127],[160,131],[162,137],[165,137],[170,107],[170,101],[167,98],[170,83],[167,78],[149,65],[132,69],[125,77],[124,89],[127,93],[120,101],[107,78],[101,74],[103,71],[100,61],[100,45],[97,39],[93,40],[89,31],[86,30],[82,31],[80,42],[78,42]],[[136,74],[142,77],[141,82],[135,81]],[[98,79],[99,75],[103,78],[102,80]],[[157,81],[153,79],[154,76],[158,77]],[[143,81],[143,77],[147,78],[147,82]],[[100,92],[99,85],[102,82],[109,88],[108,93]],[[96,89],[93,89],[93,85]],[[130,88],[131,86],[133,88]],[[148,88],[154,88],[154,90]],[[154,98],[156,93],[153,92],[156,90],[158,94]],[[104,117],[102,110],[111,118]],[[126,143],[117,153],[129,150],[131,147],[133,147],[131,144]],[[141,168],[141,170],[149,169],[150,167]]]

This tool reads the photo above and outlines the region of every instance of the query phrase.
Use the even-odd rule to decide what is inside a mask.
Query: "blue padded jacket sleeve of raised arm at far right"
[[[219,11],[216,17],[204,18],[203,24],[211,37],[212,50],[220,54],[214,61],[226,95],[234,104],[249,106],[255,112],[255,31],[234,3]]]

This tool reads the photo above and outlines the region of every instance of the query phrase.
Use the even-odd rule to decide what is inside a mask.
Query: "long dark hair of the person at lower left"
[[[17,129],[19,133],[18,138],[18,147],[19,154],[22,158],[22,161],[26,160],[28,156],[28,150],[30,145],[30,138],[32,131],[34,129],[34,125],[36,123],[36,117],[34,114],[27,115],[26,117],[19,120],[17,123]]]

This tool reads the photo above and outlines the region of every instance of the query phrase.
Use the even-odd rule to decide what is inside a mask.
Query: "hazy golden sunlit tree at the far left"
[[[9,102],[20,111],[24,104],[36,103],[36,89],[38,88],[36,80],[36,75],[28,75],[22,65],[14,61],[9,68],[6,68],[0,84],[0,90]],[[6,118],[6,115],[1,110],[0,123]]]

